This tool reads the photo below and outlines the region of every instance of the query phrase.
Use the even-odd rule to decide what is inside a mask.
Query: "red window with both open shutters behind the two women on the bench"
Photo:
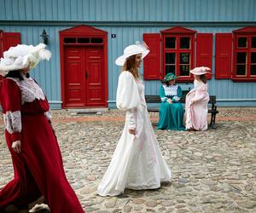
[[[177,81],[191,82],[194,77],[189,71],[195,66],[212,69],[212,33],[196,33],[177,26],[160,33],[144,33],[143,40],[150,49],[143,63],[146,80],[160,80],[172,72]],[[211,77],[211,73],[207,74],[208,79]]]

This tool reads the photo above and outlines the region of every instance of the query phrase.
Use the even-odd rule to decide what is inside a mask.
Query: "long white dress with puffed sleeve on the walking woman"
[[[148,116],[144,85],[131,72],[119,75],[116,104],[126,111],[125,128],[97,193],[116,196],[125,188],[158,188],[161,181],[171,181],[171,170],[161,155]],[[136,135],[129,133],[130,128],[136,128]]]

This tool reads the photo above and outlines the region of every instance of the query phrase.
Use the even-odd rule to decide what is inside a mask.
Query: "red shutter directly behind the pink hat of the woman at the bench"
[[[212,33],[196,34],[196,66],[207,66],[212,70]],[[207,78],[212,78],[212,72]]]

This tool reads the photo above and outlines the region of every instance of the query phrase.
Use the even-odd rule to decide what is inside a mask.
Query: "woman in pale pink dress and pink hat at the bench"
[[[186,95],[184,121],[186,130],[207,130],[207,112],[209,94],[207,92],[206,73],[211,69],[205,66],[196,67],[190,72],[194,74],[194,89]]]

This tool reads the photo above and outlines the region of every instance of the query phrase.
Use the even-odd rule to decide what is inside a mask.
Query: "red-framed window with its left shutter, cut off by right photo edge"
[[[216,33],[215,78],[256,81],[256,27]]]

